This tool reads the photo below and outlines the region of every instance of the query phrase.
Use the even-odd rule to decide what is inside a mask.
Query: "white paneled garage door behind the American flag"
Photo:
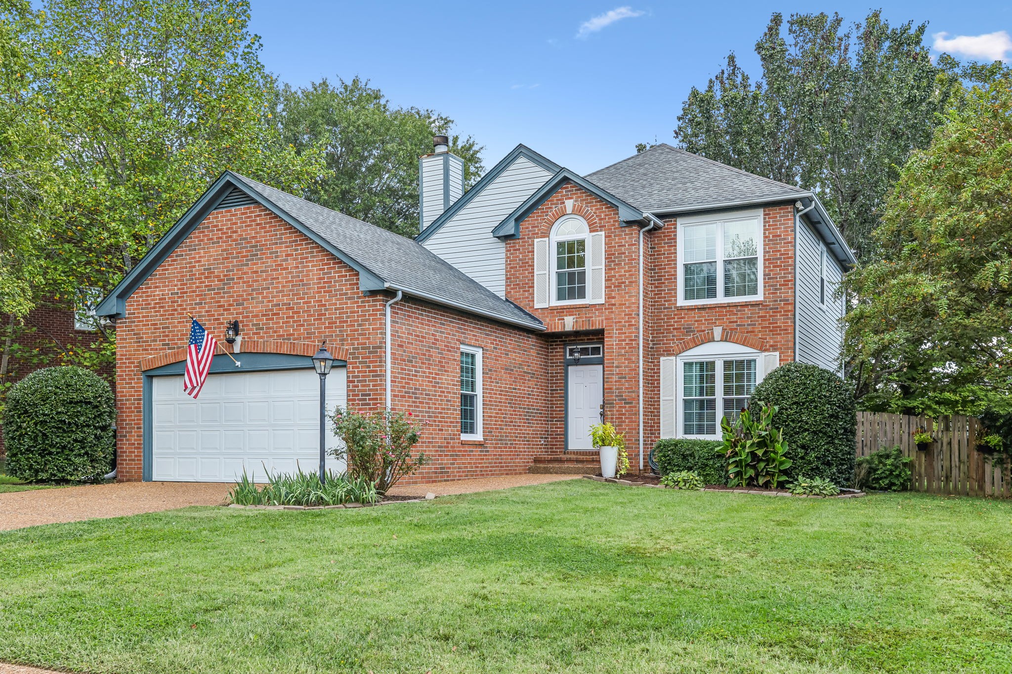
[[[345,368],[327,377],[327,407],[347,404]],[[262,482],[265,469],[320,466],[320,378],[313,370],[214,374],[194,400],[182,377],[152,381],[152,479]],[[328,421],[328,450],[338,444]],[[327,468],[344,463],[327,457]]]

